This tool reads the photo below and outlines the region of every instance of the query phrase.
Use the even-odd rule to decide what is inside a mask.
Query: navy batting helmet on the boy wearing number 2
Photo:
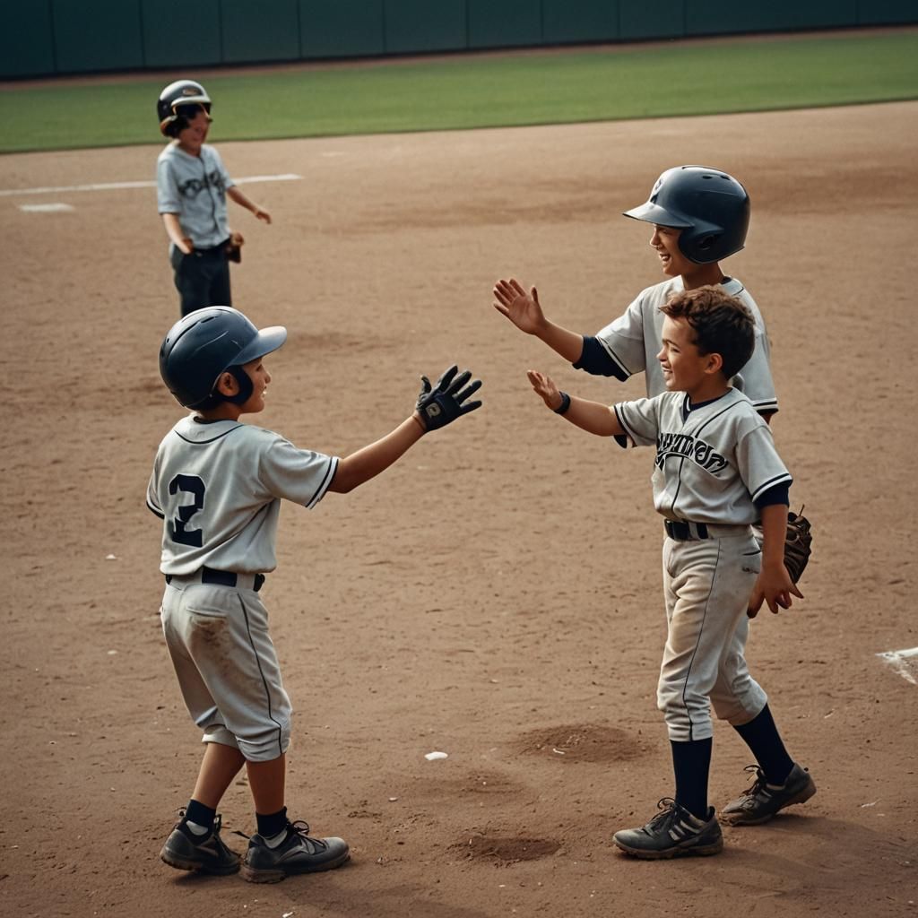
[[[252,393],[252,382],[241,365],[276,351],[284,341],[282,325],[258,330],[238,309],[196,309],[179,319],[162,341],[162,382],[185,408],[211,408],[223,400],[214,387],[220,375],[229,371],[242,390],[231,400],[245,401]]]

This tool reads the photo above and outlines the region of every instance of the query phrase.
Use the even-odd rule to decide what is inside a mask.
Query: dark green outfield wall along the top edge
[[[0,78],[916,22],[915,0],[0,0]]]

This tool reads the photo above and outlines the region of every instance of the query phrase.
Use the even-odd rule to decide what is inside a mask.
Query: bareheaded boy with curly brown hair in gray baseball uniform
[[[655,446],[654,505],[664,518],[667,637],[657,686],[676,778],[646,825],[613,841],[655,859],[713,855],[720,823],[708,805],[711,706],[756,756],[752,789],[722,812],[731,824],[764,823],[816,792],[790,758],[767,696],[744,659],[747,616],[777,612],[801,597],[784,566],[791,477],[767,423],[731,386],[756,347],[748,308],[720,286],[682,290],[661,308],[656,354],[666,391],[611,408],[560,392],[530,371],[533,389],[565,420],[599,436]],[[762,523],[763,542],[752,524]]]

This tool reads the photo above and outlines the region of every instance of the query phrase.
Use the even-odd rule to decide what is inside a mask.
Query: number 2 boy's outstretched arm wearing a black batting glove
[[[481,408],[480,401],[468,401],[481,386],[481,380],[469,382],[472,374],[458,372],[452,366],[435,386],[421,376],[421,389],[414,412],[385,437],[351,453],[338,463],[329,490],[346,494],[393,465],[428,431],[439,430],[464,414]]]

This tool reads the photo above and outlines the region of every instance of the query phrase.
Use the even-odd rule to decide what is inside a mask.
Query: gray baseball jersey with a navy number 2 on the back
[[[163,520],[160,570],[274,570],[281,498],[312,509],[338,461],[252,424],[183,418],[160,443],[147,487],[147,506]]]

